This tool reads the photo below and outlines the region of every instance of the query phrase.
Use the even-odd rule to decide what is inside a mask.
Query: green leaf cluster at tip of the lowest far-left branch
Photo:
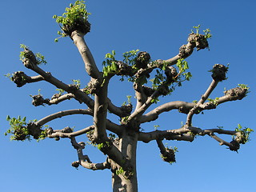
[[[6,131],[5,135],[12,134],[10,136],[11,140],[30,140],[29,130],[26,127],[26,117],[21,118],[21,116],[18,116],[18,118],[10,118],[8,115],[6,120],[10,124],[10,129]]]

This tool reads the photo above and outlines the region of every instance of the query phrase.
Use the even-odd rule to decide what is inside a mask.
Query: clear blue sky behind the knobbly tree
[[[38,82],[16,88],[4,74],[23,70],[35,75],[19,61],[21,43],[30,46],[35,53],[45,55],[48,64],[42,66],[63,82],[80,79],[86,86],[88,76],[79,57],[78,50],[70,38],[62,38],[58,43],[58,24],[54,14],[62,14],[70,1],[31,1],[13,0],[1,2],[1,74],[2,86],[0,112],[0,190],[14,191],[111,191],[110,171],[91,171],[83,168],[75,170],[70,163],[77,160],[76,151],[68,139],[55,142],[46,139],[42,142],[14,142],[4,136],[9,128],[6,115],[21,115],[28,119],[40,119],[59,110],[82,108],[75,101],[63,102],[58,106],[31,105],[30,94],[41,94],[50,98],[54,86]],[[210,98],[220,97],[223,90],[234,88],[238,83],[250,86],[250,94],[242,101],[229,102],[218,106],[217,110],[206,111],[194,116],[194,126],[203,129],[224,126],[234,130],[242,126],[255,129],[255,70],[254,55],[256,30],[256,2],[247,1],[167,1],[167,0],[88,0],[87,9],[92,24],[86,42],[98,63],[106,53],[116,50],[117,58],[127,50],[146,50],[153,59],[166,59],[178,54],[178,48],[186,44],[192,26],[210,28],[210,51],[194,51],[187,58],[193,78],[179,87],[169,98],[160,103],[182,100],[198,100],[210,84],[208,70],[215,63],[230,63],[228,79],[221,82]],[[118,56],[119,55],[119,56]],[[111,82],[109,95],[116,105],[126,101],[126,95],[133,95],[130,83]],[[124,88],[125,86],[125,88]],[[134,102],[134,99],[132,100]],[[186,115],[177,111],[163,114],[158,122],[148,123],[144,130],[175,129],[186,121]],[[54,129],[75,126],[82,129],[90,126],[91,119],[77,115],[62,118],[50,123]],[[225,137],[226,138],[226,137]],[[85,138],[79,138],[83,141]],[[228,141],[231,138],[227,138]],[[239,153],[219,146],[209,137],[197,138],[194,142],[168,142],[177,146],[177,162],[168,165],[159,157],[155,142],[138,145],[138,189],[139,191],[254,191],[256,134],[251,141],[241,146]],[[104,157],[98,150],[86,146],[86,154],[94,162]],[[94,185],[95,184],[95,185]]]

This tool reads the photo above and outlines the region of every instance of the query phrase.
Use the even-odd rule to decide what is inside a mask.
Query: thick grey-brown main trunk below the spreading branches
[[[119,150],[130,160],[130,171],[118,170],[112,174],[113,192],[137,192],[136,150],[138,134],[134,130],[126,129],[119,140]]]

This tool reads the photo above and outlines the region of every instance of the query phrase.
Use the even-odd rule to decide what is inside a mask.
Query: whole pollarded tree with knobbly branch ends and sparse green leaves
[[[26,83],[45,81],[56,86],[59,90],[52,98],[43,98],[42,94],[34,95],[33,105],[54,105],[74,98],[86,109],[65,110],[56,114],[50,114],[38,121],[26,122],[26,118],[10,118],[10,130],[14,140],[24,141],[43,138],[70,138],[71,145],[78,152],[78,161],[72,166],[83,166],[89,170],[105,170],[112,172],[113,191],[138,191],[136,173],[136,148],[138,142],[157,142],[161,157],[165,162],[175,162],[176,148],[163,145],[163,140],[177,140],[193,142],[196,136],[209,135],[221,145],[228,146],[230,150],[238,151],[240,144],[249,140],[250,128],[243,129],[238,126],[236,130],[203,129],[192,126],[194,114],[203,110],[213,110],[218,105],[246,97],[248,87],[239,85],[231,90],[226,90],[224,96],[210,99],[210,94],[218,85],[226,79],[228,67],[216,64],[210,70],[212,82],[205,93],[202,93],[198,102],[173,101],[162,105],[158,104],[159,97],[166,97],[174,91],[176,86],[182,86],[182,82],[191,78],[187,62],[184,60],[193,53],[194,49],[202,50],[208,48],[207,39],[210,38],[210,30],[204,30],[199,34],[199,26],[194,27],[187,39],[187,43],[181,46],[178,54],[167,60],[152,60],[147,52],[131,50],[123,54],[123,60],[115,58],[115,52],[106,54],[102,71],[94,62],[94,57],[86,45],[84,36],[90,31],[88,22],[89,13],[83,1],[76,1],[66,8],[62,16],[54,16],[56,22],[61,26],[58,34],[61,37],[69,36],[78,47],[85,64],[86,72],[90,76],[90,82],[85,88],[80,87],[78,81],[66,84],[52,74],[42,70],[39,65],[46,64],[42,54],[34,54],[27,46],[21,52],[21,59],[26,68],[33,70],[38,75],[29,76],[22,71],[15,72],[10,78],[18,87]],[[55,39],[58,42],[58,38]],[[150,78],[151,75],[151,78]],[[134,94],[137,100],[133,106],[129,99],[122,106],[115,106],[108,97],[108,86],[111,78],[119,76],[121,81],[133,82]],[[154,76],[154,78],[152,78]],[[202,91],[204,92],[204,91]],[[151,110],[150,110],[151,109]],[[152,110],[153,109],[153,110]],[[178,110],[186,114],[186,123],[182,127],[172,130],[154,130],[147,132],[142,130],[143,123],[155,121],[163,112]],[[120,118],[120,122],[110,121],[108,114],[114,114]],[[46,123],[66,115],[85,114],[93,117],[91,126],[82,130],[74,130],[66,127],[62,130],[54,130],[46,126]],[[98,146],[98,150],[106,155],[106,162],[91,162],[84,154],[85,142],[78,142],[79,135],[86,134],[90,143]],[[231,142],[226,142],[216,134],[227,134],[232,136]]]

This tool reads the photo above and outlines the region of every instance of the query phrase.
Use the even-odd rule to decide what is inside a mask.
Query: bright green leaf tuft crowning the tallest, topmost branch
[[[74,4],[70,3],[70,7],[66,7],[66,12],[62,16],[54,15],[53,18],[61,26],[62,31],[58,31],[58,34],[62,37],[66,37],[66,28],[68,26],[75,25],[78,21],[87,21],[90,13],[86,10],[85,1],[76,1]],[[58,42],[58,38],[54,39],[54,42]]]

